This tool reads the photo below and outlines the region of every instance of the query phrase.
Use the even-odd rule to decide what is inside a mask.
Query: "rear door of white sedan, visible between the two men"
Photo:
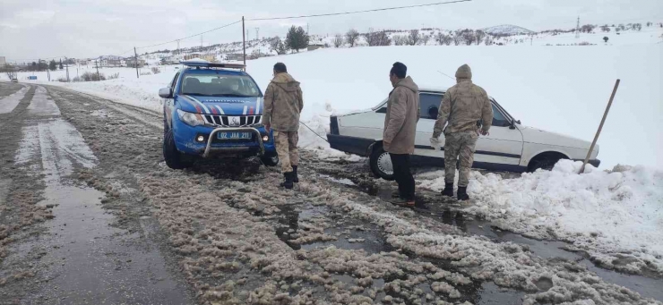
[[[417,123],[417,136],[415,137],[415,155],[424,157],[444,157],[443,151],[435,151],[430,145],[433,137],[433,128],[437,121],[437,113],[442,103],[443,92],[419,92],[419,109],[421,117]],[[440,137],[444,146],[444,137]]]

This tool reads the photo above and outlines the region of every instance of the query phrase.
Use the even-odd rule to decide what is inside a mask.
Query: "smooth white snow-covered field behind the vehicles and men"
[[[304,120],[323,132],[327,116],[377,105],[391,90],[387,74],[401,61],[420,86],[447,88],[461,64],[474,80],[525,125],[591,140],[617,78],[622,80],[607,123],[598,140],[601,168],[617,164],[663,168],[663,45],[629,47],[358,47],[281,55],[248,62],[249,72],[264,89],[277,61],[302,82]],[[66,87],[160,111],[156,92],[172,79],[175,67],[135,79],[135,70],[119,80],[66,83]],[[148,71],[142,69],[142,71]],[[52,78],[64,72],[53,72]],[[45,73],[37,73],[44,80]],[[28,73],[19,74],[24,78]],[[70,70],[70,75],[75,73]],[[24,80],[22,80],[24,81]],[[58,83],[59,84],[59,83]],[[322,146],[322,140],[303,144]],[[308,131],[310,133],[310,131]]]

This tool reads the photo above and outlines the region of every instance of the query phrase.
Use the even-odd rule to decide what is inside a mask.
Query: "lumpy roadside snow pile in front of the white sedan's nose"
[[[468,211],[514,232],[573,241],[607,267],[663,273],[663,171],[616,165],[576,174],[580,166],[563,160],[518,179],[473,172],[477,203]]]

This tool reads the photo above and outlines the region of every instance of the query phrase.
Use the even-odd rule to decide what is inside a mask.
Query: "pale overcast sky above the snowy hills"
[[[443,0],[2,0],[0,56],[8,61],[52,56],[129,55],[148,46],[248,18],[337,13]],[[473,0],[404,10],[282,21],[246,22],[249,38],[285,36],[291,25],[311,34],[435,27],[480,29],[515,24],[530,30],[567,29],[581,23],[663,21],[663,0]],[[202,44],[241,41],[241,23],[202,36]],[[181,47],[199,46],[189,38]],[[174,49],[176,43],[140,49]]]

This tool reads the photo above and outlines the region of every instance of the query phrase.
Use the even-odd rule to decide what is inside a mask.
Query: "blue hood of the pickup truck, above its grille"
[[[182,110],[197,114],[263,114],[263,97],[177,96]]]

